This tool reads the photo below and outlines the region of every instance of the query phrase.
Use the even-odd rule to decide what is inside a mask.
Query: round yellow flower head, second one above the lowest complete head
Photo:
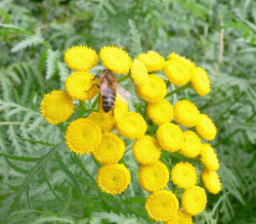
[[[160,158],[161,148],[155,138],[144,135],[134,142],[133,155],[139,164],[154,164]]]

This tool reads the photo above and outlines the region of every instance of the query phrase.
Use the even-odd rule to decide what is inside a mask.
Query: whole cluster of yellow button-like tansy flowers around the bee
[[[106,113],[100,94],[102,83],[90,73],[99,56],[91,48],[76,46],[64,53],[67,67],[74,71],[65,80],[66,92],[46,94],[41,102],[42,116],[52,125],[63,123],[73,113],[73,100],[79,100],[76,109],[84,113],[80,117],[75,114],[76,119],[68,123],[65,143],[81,156],[92,153],[103,165],[97,174],[99,188],[112,195],[127,189],[131,174],[122,158],[125,148],[132,148],[140,165],[138,181],[151,193],[145,205],[149,217],[166,223],[192,223],[192,216],[202,212],[207,202],[205,190],[196,185],[198,174],[210,193],[218,194],[222,188],[216,172],[220,167],[217,155],[209,143],[201,143],[200,139],[213,140],[217,129],[192,101],[182,99],[173,106],[167,98],[188,88],[202,96],[210,93],[206,71],[175,53],[166,60],[149,51],[132,60],[120,48],[104,47],[100,58],[107,70],[126,75],[121,80],[131,78],[135,92],[145,101],[144,108],[129,111],[128,104],[117,96],[111,97],[114,106]],[[171,84],[183,87],[168,93]],[[93,98],[93,106],[88,108],[85,100]],[[190,162],[198,161],[198,157],[203,168],[196,173],[189,162],[163,163],[162,151]]]

